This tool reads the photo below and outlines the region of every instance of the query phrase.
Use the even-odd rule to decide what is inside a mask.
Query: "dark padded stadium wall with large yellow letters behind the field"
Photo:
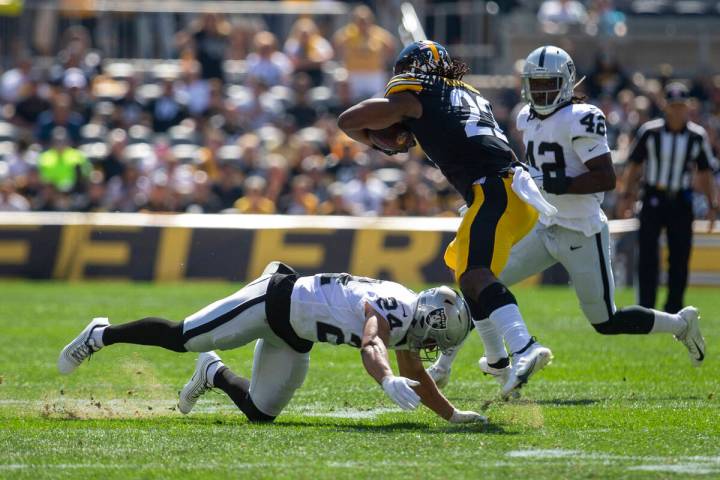
[[[0,277],[243,282],[272,260],[302,273],[450,283],[457,218],[4,213]],[[699,222],[702,223],[702,222]],[[698,225],[701,230],[703,225]],[[634,221],[611,223],[614,234]],[[705,228],[707,228],[705,226]],[[696,234],[691,283],[720,284],[720,234]]]

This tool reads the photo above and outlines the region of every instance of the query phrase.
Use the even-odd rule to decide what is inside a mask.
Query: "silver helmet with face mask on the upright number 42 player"
[[[575,64],[562,48],[546,45],[525,59],[520,75],[522,99],[541,115],[549,115],[572,100]]]

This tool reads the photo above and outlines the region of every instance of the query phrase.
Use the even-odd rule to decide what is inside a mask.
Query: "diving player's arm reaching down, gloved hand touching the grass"
[[[400,375],[412,378],[420,383],[414,390],[420,396],[423,405],[451,423],[485,422],[479,413],[456,409],[437,388],[433,379],[425,371],[417,352],[399,350],[395,352]]]

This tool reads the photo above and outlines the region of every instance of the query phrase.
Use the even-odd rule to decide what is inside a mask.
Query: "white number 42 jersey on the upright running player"
[[[517,128],[523,134],[525,158],[539,186],[543,170],[563,169],[566,176],[577,177],[589,171],[585,162],[610,152],[605,116],[594,105],[569,104],[544,119],[526,105],[518,114]],[[540,215],[544,225],[560,225],[590,236],[600,232],[607,222],[600,208],[603,193],[542,193],[558,209],[553,217]]]

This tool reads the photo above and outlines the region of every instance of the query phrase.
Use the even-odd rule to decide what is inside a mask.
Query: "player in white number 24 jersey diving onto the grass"
[[[250,421],[271,422],[305,380],[313,344],[347,344],[361,350],[367,372],[401,408],[422,402],[449,422],[469,423],[485,418],[456,409],[425,372],[419,352],[453,348],[470,329],[465,301],[448,287],[416,294],[398,283],[347,273],[299,277],[272,262],[260,278],[179,323],[150,317],[110,325],[95,318],[62,350],[58,369],[69,374],[116,343],[206,352],[180,392],[179,410],[189,413],[202,394],[218,388]],[[251,380],[234,374],[212,351],[254,340]],[[388,349],[396,350],[399,376]]]

